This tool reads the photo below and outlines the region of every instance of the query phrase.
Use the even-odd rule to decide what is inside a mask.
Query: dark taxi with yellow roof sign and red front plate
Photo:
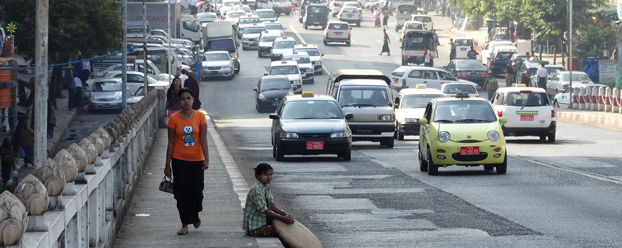
[[[337,154],[350,160],[352,131],[337,101],[329,95],[287,95],[272,119],[272,156]]]

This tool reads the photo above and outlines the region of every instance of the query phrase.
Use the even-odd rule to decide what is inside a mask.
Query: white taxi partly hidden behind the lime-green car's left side
[[[402,89],[395,98],[396,133],[393,138],[404,140],[405,135],[419,135],[419,119],[424,117],[430,100],[445,97],[438,89],[426,89],[417,84],[415,89]]]

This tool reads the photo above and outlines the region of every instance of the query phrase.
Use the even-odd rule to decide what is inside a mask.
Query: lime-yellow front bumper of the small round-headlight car
[[[501,164],[506,152],[505,144],[502,139],[503,137],[496,142],[488,140],[476,143],[458,143],[454,141],[440,143],[435,141],[434,146],[430,146],[430,154],[432,155],[432,161],[437,166],[479,166],[480,164]],[[480,154],[460,155],[460,146],[479,146]],[[496,152],[494,151],[496,148],[501,149]],[[439,149],[445,150],[445,153],[438,153]],[[438,157],[439,155],[444,156],[444,159],[440,159]]]

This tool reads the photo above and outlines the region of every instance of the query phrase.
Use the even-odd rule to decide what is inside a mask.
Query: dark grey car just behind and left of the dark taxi
[[[274,110],[285,95],[293,95],[294,88],[284,75],[262,76],[255,91],[255,108],[257,112]]]

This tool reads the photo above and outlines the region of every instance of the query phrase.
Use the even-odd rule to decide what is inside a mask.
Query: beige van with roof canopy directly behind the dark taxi
[[[328,77],[327,95],[332,95],[348,120],[352,141],[373,141],[393,148],[395,110],[391,79],[376,69],[338,69]]]

